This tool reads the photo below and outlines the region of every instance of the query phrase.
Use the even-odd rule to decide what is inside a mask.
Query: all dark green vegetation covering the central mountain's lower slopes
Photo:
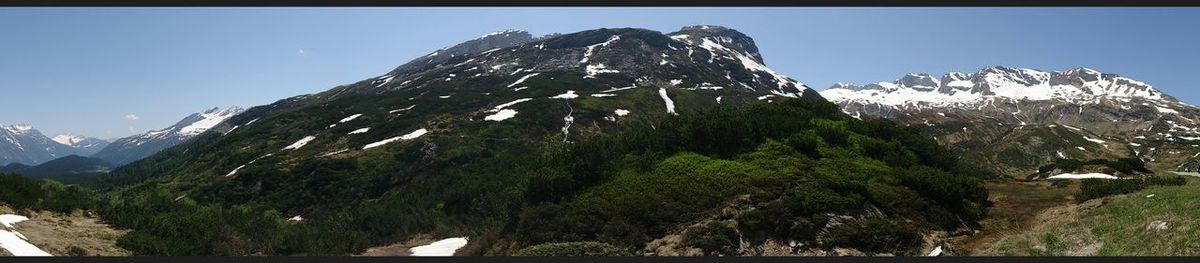
[[[538,82],[545,79],[530,80]],[[342,255],[418,233],[481,237],[473,243],[511,249],[602,241],[637,251],[646,241],[678,231],[742,195],[749,195],[749,205],[761,211],[738,219],[746,222],[739,232],[754,233],[756,241],[792,238],[824,247],[911,253],[913,237],[922,232],[976,226],[984,215],[986,192],[980,181],[954,155],[911,128],[854,120],[834,104],[812,98],[736,107],[716,106],[700,96],[702,91],[672,91],[680,108],[695,110],[668,116],[653,114],[653,107],[636,107],[660,106],[655,91],[625,91],[620,95],[624,103],[632,103],[625,106],[592,97],[569,102],[577,119],[602,116],[601,110],[613,107],[644,113],[598,126],[612,132],[572,132],[570,143],[548,132],[558,130],[560,120],[541,121],[558,118],[521,118],[565,115],[566,106],[557,106],[563,101],[524,102],[515,107],[521,115],[511,121],[464,121],[454,128],[438,122],[469,112],[438,108],[445,103],[437,103],[436,96],[416,102],[402,95],[379,102],[366,97],[335,101],[262,120],[226,138],[208,133],[116,171],[107,181],[113,205],[102,215],[115,226],[134,229],[119,245],[137,255]],[[559,92],[538,96],[554,94]],[[734,100],[726,97],[726,103]],[[404,133],[425,124],[420,127],[431,135],[420,139],[361,151],[353,159],[280,154],[223,177],[269,153],[263,149],[280,149],[306,135],[298,131],[319,130],[296,126],[322,127],[362,107],[380,107],[361,110],[371,113],[413,103],[418,107],[400,116],[360,119],[385,119],[372,128],[386,125],[392,127],[379,130]],[[344,135],[361,124],[340,124],[330,133]],[[576,125],[589,124],[577,120]],[[540,128],[522,130],[528,126]],[[349,137],[349,143],[318,137],[286,155],[318,155],[313,144],[353,148],[391,136],[367,133],[366,138]],[[173,159],[178,155],[198,157]],[[827,213],[858,215],[864,207],[877,207],[887,216],[816,237],[830,220]],[[305,220],[284,220],[292,215]],[[737,239],[718,235],[728,237],[731,229],[689,237],[710,239],[697,246],[728,249]],[[860,238],[875,233],[882,235]],[[484,246],[475,253],[517,252],[511,249]]]

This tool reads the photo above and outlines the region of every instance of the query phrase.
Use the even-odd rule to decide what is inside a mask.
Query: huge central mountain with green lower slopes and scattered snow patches
[[[136,255],[907,256],[986,203],[949,150],[727,28],[506,31],[403,65],[114,169],[102,216]]]

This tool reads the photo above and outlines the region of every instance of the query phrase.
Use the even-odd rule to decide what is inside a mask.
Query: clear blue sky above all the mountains
[[[1200,8],[8,7],[0,125],[118,138],[376,77],[504,29],[722,25],[815,89],[989,66],[1091,67],[1200,104]]]

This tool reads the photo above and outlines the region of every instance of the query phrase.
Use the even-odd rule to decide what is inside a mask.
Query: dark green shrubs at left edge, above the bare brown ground
[[[76,185],[0,173],[0,204],[17,210],[71,213],[95,209],[100,202],[90,190]]]

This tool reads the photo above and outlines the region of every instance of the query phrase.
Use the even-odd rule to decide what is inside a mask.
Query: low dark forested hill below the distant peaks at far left
[[[104,160],[68,155],[32,167],[5,167],[0,172],[20,174],[30,178],[54,179],[72,184],[108,173],[113,165]]]

